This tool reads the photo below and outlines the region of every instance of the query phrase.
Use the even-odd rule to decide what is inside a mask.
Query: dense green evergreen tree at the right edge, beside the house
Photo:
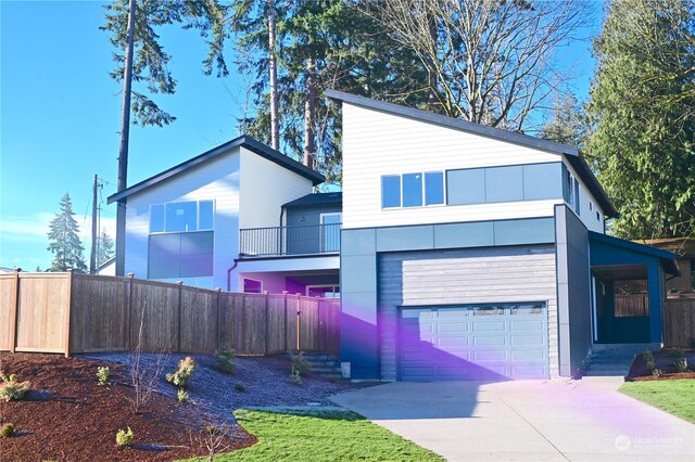
[[[594,50],[587,153],[626,239],[695,231],[695,2],[615,0]]]

